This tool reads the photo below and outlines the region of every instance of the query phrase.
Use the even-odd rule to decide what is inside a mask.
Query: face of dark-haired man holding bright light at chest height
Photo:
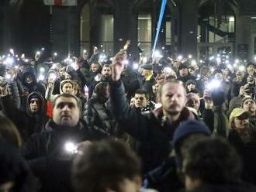
[[[75,126],[79,117],[78,103],[74,98],[57,98],[53,111],[53,120],[57,125]]]

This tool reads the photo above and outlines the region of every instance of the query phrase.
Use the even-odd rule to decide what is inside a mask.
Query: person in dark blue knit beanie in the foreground
[[[144,187],[154,188],[161,192],[181,191],[183,183],[179,178],[179,174],[182,172],[185,150],[193,142],[209,137],[210,135],[209,128],[198,121],[185,121],[178,125],[173,139],[175,156],[173,156],[174,153],[171,153],[171,156],[161,166],[150,170],[144,176]]]

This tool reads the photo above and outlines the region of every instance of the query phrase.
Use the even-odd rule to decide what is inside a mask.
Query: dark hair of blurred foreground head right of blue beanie
[[[242,173],[240,156],[221,138],[200,139],[185,155],[185,174],[203,183],[237,183]]]

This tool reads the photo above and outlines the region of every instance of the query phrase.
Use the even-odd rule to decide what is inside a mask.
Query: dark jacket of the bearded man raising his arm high
[[[184,108],[178,121],[170,123],[164,119],[161,108],[142,114],[126,102],[122,81],[111,81],[109,87],[110,106],[114,117],[124,131],[141,142],[140,156],[145,171],[152,170],[167,159],[171,151],[172,136],[180,122],[194,119],[194,115]]]

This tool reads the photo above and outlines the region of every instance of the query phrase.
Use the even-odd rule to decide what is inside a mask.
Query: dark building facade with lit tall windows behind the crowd
[[[31,45],[25,48],[29,51],[38,45],[63,57],[94,46],[111,55],[127,39],[134,58],[141,51],[149,55],[161,7],[160,0],[78,0],[77,6],[52,8],[42,0],[10,2],[1,6],[2,50]],[[168,0],[157,49],[198,59],[225,52],[253,60],[255,7],[254,0]],[[12,10],[12,19],[6,10]]]

